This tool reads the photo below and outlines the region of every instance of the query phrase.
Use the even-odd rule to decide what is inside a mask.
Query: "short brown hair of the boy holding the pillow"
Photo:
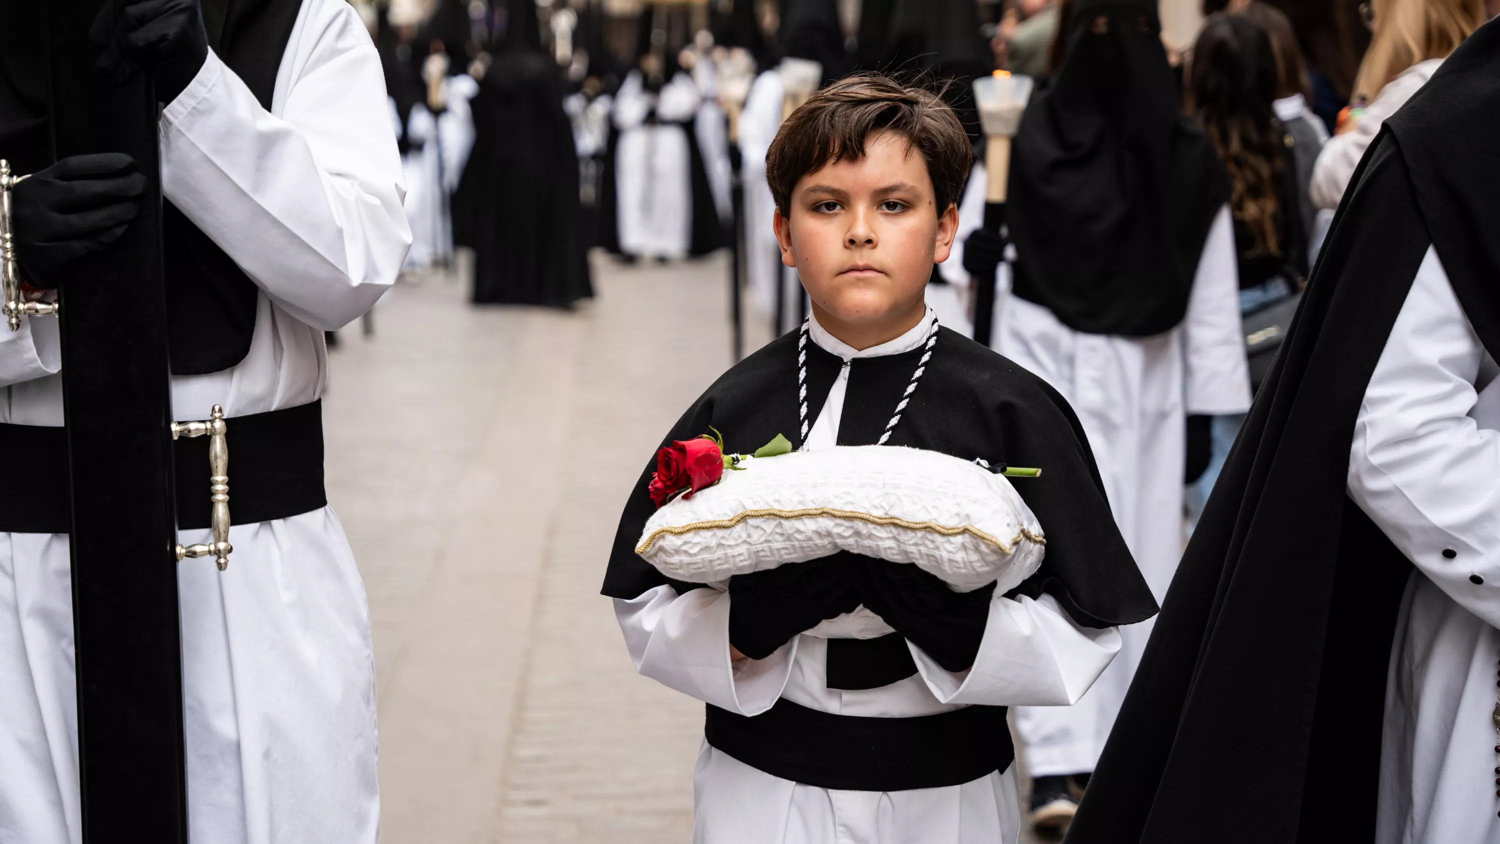
[[[974,148],[958,117],[936,93],[882,73],[846,76],[807,99],[771,141],[765,180],[783,217],[792,213],[796,180],[840,160],[864,157],[873,132],[906,138],[927,163],[938,214],[957,204],[974,166]]]

